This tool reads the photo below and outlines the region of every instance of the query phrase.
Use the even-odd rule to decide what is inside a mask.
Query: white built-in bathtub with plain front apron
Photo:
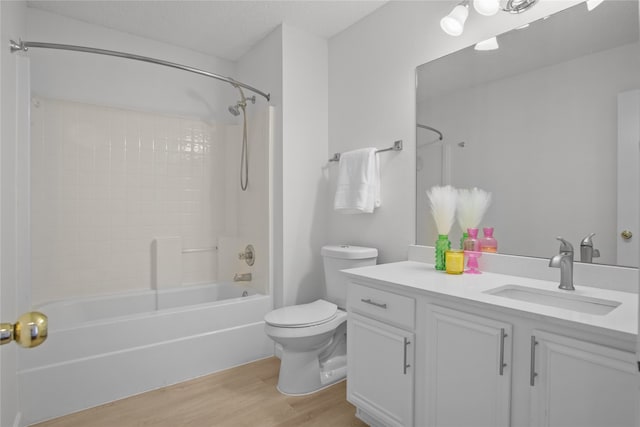
[[[49,317],[49,337],[19,350],[22,423],[271,356],[263,322],[271,307],[269,296],[234,283],[36,307]]]

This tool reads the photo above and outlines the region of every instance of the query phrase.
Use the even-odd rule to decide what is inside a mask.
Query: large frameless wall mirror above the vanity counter
[[[550,258],[562,236],[580,261],[596,233],[593,262],[637,267],[638,18],[636,0],[580,3],[418,67],[418,245],[437,239],[426,190],[451,184],[492,193],[499,253]]]

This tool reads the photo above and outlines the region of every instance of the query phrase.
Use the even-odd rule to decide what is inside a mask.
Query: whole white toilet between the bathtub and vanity
[[[314,393],[347,375],[347,278],[340,270],[375,265],[377,249],[324,246],[325,299],[273,310],[265,332],[282,347],[278,390]]]

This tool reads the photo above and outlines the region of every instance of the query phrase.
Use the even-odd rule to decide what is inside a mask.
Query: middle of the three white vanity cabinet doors
[[[508,323],[428,306],[428,425],[509,425],[511,329]]]

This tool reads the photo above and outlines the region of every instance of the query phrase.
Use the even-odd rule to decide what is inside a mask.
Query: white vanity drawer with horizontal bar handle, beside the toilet
[[[349,283],[347,310],[413,329],[415,299]]]

